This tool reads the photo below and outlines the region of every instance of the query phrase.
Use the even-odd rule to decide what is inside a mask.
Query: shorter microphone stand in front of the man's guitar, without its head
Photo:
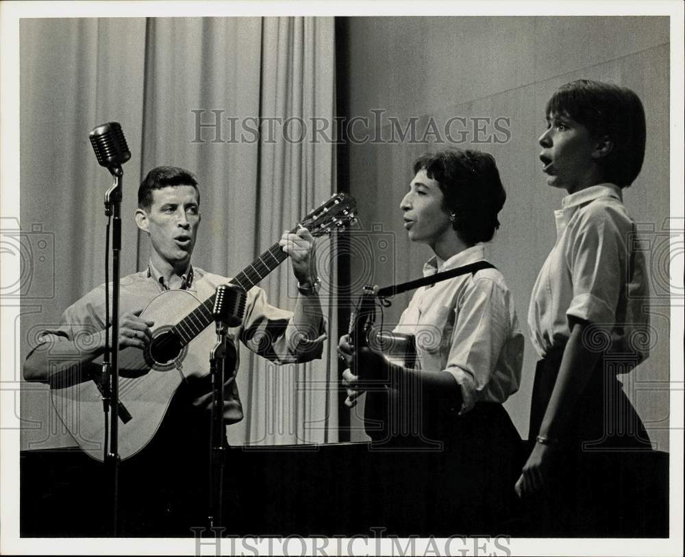
[[[232,373],[236,364],[235,346],[227,336],[228,323],[221,317],[216,320],[216,345],[210,353],[210,373],[212,374],[212,423],[210,424],[210,493],[208,525],[210,530],[223,524],[223,468],[226,447],[223,425],[223,382],[225,373]],[[232,354],[227,357],[228,349]]]

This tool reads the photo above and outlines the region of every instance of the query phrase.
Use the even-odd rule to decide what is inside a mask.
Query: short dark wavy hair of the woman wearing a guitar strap
[[[493,156],[469,149],[429,153],[414,163],[414,174],[421,170],[438,182],[462,241],[475,245],[493,239],[497,213],[507,199]]]

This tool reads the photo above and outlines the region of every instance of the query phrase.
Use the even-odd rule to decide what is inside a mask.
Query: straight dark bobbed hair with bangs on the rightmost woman
[[[561,86],[547,101],[545,114],[566,114],[595,137],[608,136],[613,148],[601,159],[603,179],[627,188],[645,160],[645,108],[627,87],[578,79]]]

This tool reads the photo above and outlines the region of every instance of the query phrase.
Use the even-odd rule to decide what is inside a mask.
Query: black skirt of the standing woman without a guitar
[[[556,383],[563,351],[536,367],[529,454]],[[525,504],[527,536],[632,536],[643,527],[640,486],[651,443],[612,362],[601,358],[571,414],[540,493]],[[636,465],[637,464],[637,465]]]

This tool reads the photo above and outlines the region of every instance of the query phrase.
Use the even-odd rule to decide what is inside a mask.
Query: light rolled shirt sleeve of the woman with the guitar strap
[[[445,369],[462,388],[461,413],[473,408],[490,382],[509,321],[503,290],[488,277],[474,280],[458,308]]]

